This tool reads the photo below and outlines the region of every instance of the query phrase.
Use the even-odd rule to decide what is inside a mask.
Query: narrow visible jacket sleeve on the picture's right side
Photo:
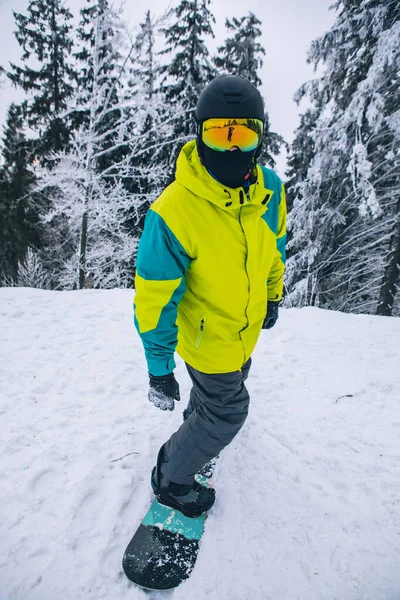
[[[275,258],[268,275],[268,300],[278,302],[283,294],[283,275],[286,264],[286,196],[282,184],[279,204],[278,220],[276,230]]]

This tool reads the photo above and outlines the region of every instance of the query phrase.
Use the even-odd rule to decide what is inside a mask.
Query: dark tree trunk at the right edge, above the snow
[[[397,214],[400,201],[397,203]],[[391,317],[397,286],[400,284],[400,218],[397,217],[395,230],[390,240],[390,251],[387,258],[382,287],[379,295],[377,315]]]

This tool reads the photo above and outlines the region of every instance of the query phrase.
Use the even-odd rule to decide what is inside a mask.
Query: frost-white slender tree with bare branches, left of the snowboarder
[[[55,275],[51,287],[127,287],[132,281],[137,237],[126,221],[144,201],[132,191],[132,156],[141,148],[132,135],[138,111],[126,83],[132,44],[120,13],[102,5],[87,46],[92,81],[70,101],[71,113],[83,114],[81,126],[38,185],[51,201],[44,218],[53,236],[45,261]]]

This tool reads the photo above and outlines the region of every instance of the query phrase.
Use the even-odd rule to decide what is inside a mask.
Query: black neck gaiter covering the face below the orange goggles
[[[245,184],[254,168],[255,152],[242,152],[241,150],[217,152],[211,150],[203,142],[200,142],[199,145],[200,158],[207,171],[223,185],[231,188],[241,187]]]

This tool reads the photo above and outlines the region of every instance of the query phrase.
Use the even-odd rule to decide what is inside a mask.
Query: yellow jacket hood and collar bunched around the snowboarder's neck
[[[261,213],[273,195],[273,191],[264,187],[264,177],[257,165],[257,181],[249,186],[247,194],[240,188],[230,188],[216,179],[202,165],[196,140],[185,144],[176,163],[176,181],[208,202],[217,205],[225,211],[237,210],[243,204],[252,205]]]

